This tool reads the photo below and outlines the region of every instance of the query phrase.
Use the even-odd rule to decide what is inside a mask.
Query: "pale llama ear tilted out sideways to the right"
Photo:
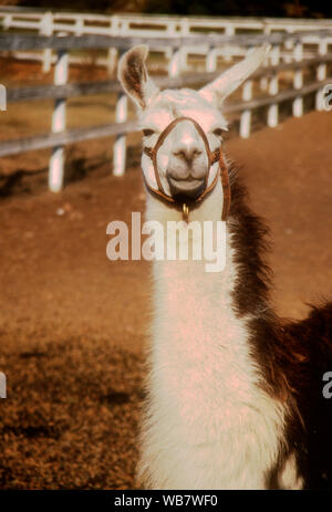
[[[218,79],[199,91],[210,103],[221,104],[248,76],[250,76],[264,61],[270,50],[266,44],[252,50],[246,59],[222,73]]]

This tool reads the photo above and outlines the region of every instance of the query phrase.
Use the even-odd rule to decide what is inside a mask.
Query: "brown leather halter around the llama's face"
[[[209,165],[208,173],[206,174],[206,177],[205,177],[204,190],[200,194],[200,196],[198,196],[196,199],[189,200],[189,205],[200,202],[215,188],[215,186],[216,186],[216,184],[218,181],[218,177],[220,175],[221,185],[222,185],[222,191],[224,191],[224,205],[222,205],[221,220],[227,220],[227,217],[228,217],[228,213],[229,213],[229,208],[230,208],[230,186],[229,186],[229,177],[228,177],[228,171],[227,171],[227,165],[225,163],[224,154],[221,151],[221,145],[215,151],[210,151],[209,143],[208,143],[208,139],[207,139],[207,136],[206,136],[204,129],[191,117],[177,117],[172,123],[169,123],[169,125],[167,125],[166,128],[160,133],[160,135],[159,135],[159,137],[158,137],[158,139],[156,142],[156,145],[154,147],[144,147],[143,151],[153,161],[154,171],[155,171],[155,178],[156,178],[158,188],[155,189],[155,188],[151,187],[151,185],[147,182],[147,180],[146,180],[146,178],[144,176],[144,173],[143,173],[145,185],[146,185],[147,189],[149,190],[149,192],[155,195],[157,198],[164,199],[165,201],[172,202],[174,205],[179,205],[179,201],[174,199],[172,196],[168,196],[164,190],[164,187],[162,185],[162,180],[160,180],[160,177],[159,177],[159,174],[158,174],[158,168],[157,168],[157,153],[158,153],[159,147],[164,143],[165,138],[167,137],[167,135],[172,132],[172,129],[178,123],[180,123],[183,121],[190,121],[194,124],[197,132],[199,133],[199,135],[201,136],[204,145],[205,145],[206,154],[208,156],[208,165]],[[210,168],[217,161],[219,163],[218,173],[216,174],[216,177],[214,178],[212,182],[208,186]],[[184,215],[185,220],[188,220],[189,205],[187,202],[183,202],[183,215]]]

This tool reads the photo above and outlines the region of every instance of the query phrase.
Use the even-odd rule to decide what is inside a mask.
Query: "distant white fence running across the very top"
[[[237,35],[239,32],[270,34],[274,31],[293,33],[303,30],[322,30],[332,27],[332,19],[248,18],[248,17],[177,17],[163,14],[115,14],[51,12],[38,9],[0,8],[4,28],[41,30],[52,33],[70,31],[75,35],[107,34],[128,36],[190,35],[197,32],[217,32]]]

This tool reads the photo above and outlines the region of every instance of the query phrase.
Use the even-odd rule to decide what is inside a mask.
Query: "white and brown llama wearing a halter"
[[[332,372],[332,304],[312,307],[302,322],[273,312],[267,230],[221,149],[227,122],[219,107],[267,52],[256,49],[199,91],[160,92],[145,45],[118,64],[144,135],[147,220],[183,220],[183,230],[189,221],[226,222],[221,272],[206,272],[204,258],[153,263],[137,468],[144,489],[332,484],[332,400],[322,394]],[[176,243],[198,242],[190,230]]]

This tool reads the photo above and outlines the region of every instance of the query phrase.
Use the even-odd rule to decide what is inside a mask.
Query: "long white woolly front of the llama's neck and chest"
[[[221,206],[218,185],[190,220],[199,215],[219,220]],[[147,220],[179,220],[175,216],[148,198]],[[236,299],[241,272],[236,236],[236,229],[227,229],[222,272],[206,272],[205,261],[154,262],[153,419],[145,426],[141,461],[141,474],[153,487],[263,488],[277,460],[283,411],[263,391],[251,355],[253,312],[246,313],[246,301]]]

